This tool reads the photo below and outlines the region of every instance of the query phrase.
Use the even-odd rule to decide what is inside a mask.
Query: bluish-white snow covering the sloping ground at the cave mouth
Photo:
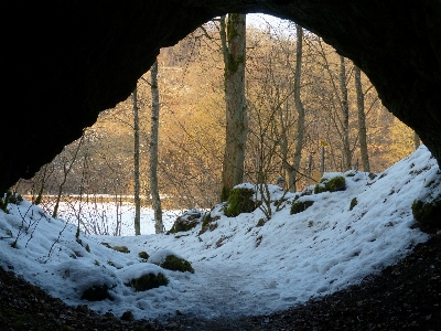
[[[0,211],[0,266],[67,305],[87,305],[118,318],[125,311],[136,319],[159,320],[174,317],[176,310],[205,318],[267,314],[358,284],[428,241],[415,227],[411,204],[441,194],[440,174],[435,159],[421,146],[375,178],[354,170],[325,173],[327,179],[343,175],[346,190],[302,195],[298,201],[314,203],[293,215],[295,195],[288,193],[281,210],[276,212],[272,204],[263,226],[257,226],[263,217],[259,209],[226,217],[218,204],[211,211],[212,217],[218,216],[217,227],[201,235],[201,224],[174,235],[155,235],[152,226],[144,226],[140,236],[80,232],[76,241],[74,224],[22,201],[9,204],[8,214]],[[276,185],[268,186],[272,201],[283,194]],[[354,197],[357,204],[349,211]],[[204,213],[186,214],[197,212]],[[141,222],[152,223],[148,212],[143,215]],[[166,224],[171,226],[172,220]],[[103,243],[127,246],[130,253]],[[142,260],[140,252],[150,258]],[[169,254],[189,260],[195,273],[159,267]],[[158,273],[169,279],[168,286],[137,292],[126,285]],[[111,288],[111,300],[80,299],[87,288],[103,285]]]

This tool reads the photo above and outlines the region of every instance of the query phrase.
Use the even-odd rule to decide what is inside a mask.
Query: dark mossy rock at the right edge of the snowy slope
[[[441,227],[441,197],[426,203],[413,201],[412,214],[421,231],[435,233]]]

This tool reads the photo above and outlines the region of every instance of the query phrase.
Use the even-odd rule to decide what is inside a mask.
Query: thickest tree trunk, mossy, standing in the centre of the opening
[[[226,140],[222,200],[244,180],[248,122],[245,100],[246,15],[230,13],[225,26],[220,18],[220,40],[225,63]]]

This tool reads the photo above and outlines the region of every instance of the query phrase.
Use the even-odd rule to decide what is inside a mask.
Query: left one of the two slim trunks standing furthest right
[[[340,90],[342,93],[342,114],[343,114],[343,171],[351,169],[351,146],[349,146],[349,104],[347,102],[346,67],[345,61],[340,55]]]

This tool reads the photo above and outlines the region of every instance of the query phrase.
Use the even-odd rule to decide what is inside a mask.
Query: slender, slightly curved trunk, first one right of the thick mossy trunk
[[[302,75],[302,52],[303,52],[303,29],[299,24],[295,24],[297,32],[297,51],[295,51],[295,76],[294,76],[294,100],[295,109],[299,114],[297,121],[297,142],[293,160],[292,174],[290,175],[290,191],[297,191],[297,174],[300,168],[300,161],[302,159],[302,148],[304,138],[304,107],[300,97],[300,78]],[[292,180],[292,183],[291,183]]]

